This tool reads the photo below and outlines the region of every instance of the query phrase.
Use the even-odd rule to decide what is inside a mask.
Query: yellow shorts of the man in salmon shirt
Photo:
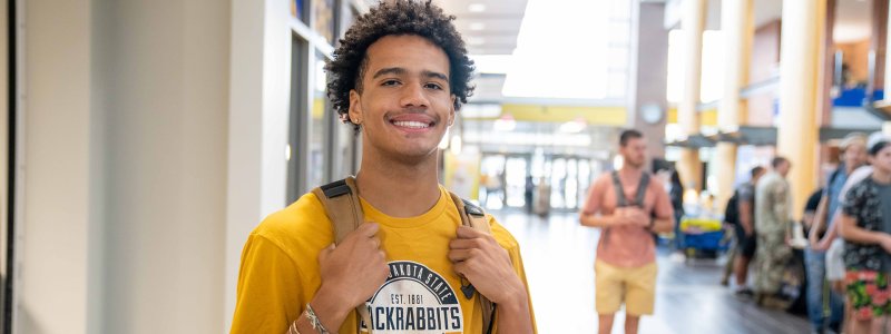
[[[640,267],[617,267],[597,261],[594,264],[597,313],[613,314],[625,302],[630,315],[653,314],[656,299],[656,263]]]

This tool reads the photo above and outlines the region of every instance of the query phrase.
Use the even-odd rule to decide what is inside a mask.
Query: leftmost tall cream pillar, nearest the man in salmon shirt
[[[681,28],[684,35],[684,96],[677,108],[677,122],[686,135],[699,132],[699,88],[702,81],[703,27],[706,0],[685,0],[682,4]],[[684,149],[677,171],[687,188],[702,188],[702,164],[697,149]]]

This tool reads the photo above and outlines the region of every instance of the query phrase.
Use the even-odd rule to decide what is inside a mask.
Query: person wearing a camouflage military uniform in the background
[[[787,244],[792,194],[785,179],[792,164],[783,157],[776,157],[771,166],[771,171],[758,180],[755,188],[755,263],[758,268],[755,294],[760,304],[768,306],[779,302],[774,297],[780,291],[783,267],[792,257],[792,247]]]

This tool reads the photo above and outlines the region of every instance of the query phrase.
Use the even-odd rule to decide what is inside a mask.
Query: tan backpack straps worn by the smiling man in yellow
[[[325,208],[325,214],[331,219],[334,227],[334,244],[340,244],[346,235],[355,230],[363,222],[364,214],[362,213],[362,205],[359,202],[359,191],[355,188],[355,178],[350,176],[344,179],[330,183],[327,185],[317,187],[312,190],[315,197],[322,203]],[[489,222],[486,219],[486,213],[481,207],[454,195],[449,191],[452,203],[458,208],[458,215],[461,217],[461,225],[470,226],[477,230],[491,234],[489,229]],[[461,292],[468,299],[472,298],[474,294],[478,295],[477,301],[482,307],[482,327],[487,328],[486,333],[492,333],[492,325],[495,323],[496,304],[489,301],[482,294],[477,293],[472,284],[467,278],[461,277]],[[371,333],[371,316],[369,310],[364,305],[355,308],[361,321],[356,321],[356,333],[361,332],[362,323],[368,325],[368,331]]]

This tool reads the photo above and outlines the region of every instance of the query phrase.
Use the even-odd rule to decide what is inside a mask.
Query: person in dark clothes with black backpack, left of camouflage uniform
[[[752,296],[748,288],[748,264],[755,256],[757,239],[755,237],[755,185],[766,170],[764,167],[755,166],[750,170],[751,179],[740,185],[736,189],[736,213],[738,222],[736,228],[736,258],[734,259],[734,274],[736,276],[736,294],[740,296]]]

